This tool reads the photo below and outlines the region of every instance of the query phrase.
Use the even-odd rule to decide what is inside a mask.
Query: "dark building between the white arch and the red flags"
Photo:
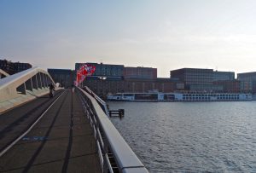
[[[70,69],[47,69],[49,75],[55,83],[61,84],[61,87],[67,88],[73,85],[75,80],[74,72]]]

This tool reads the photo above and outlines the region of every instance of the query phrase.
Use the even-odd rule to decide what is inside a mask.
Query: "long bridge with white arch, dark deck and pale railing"
[[[55,95],[49,98],[49,84]],[[148,172],[90,89],[35,67],[0,79],[0,172]]]

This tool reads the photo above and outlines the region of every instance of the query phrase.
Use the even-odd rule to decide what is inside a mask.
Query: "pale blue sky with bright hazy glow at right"
[[[0,0],[0,59],[256,72],[254,0]]]

